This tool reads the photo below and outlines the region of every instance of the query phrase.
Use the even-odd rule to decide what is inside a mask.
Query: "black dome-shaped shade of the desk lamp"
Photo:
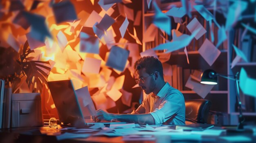
[[[204,70],[201,74],[201,84],[218,84],[217,73],[214,70]]]

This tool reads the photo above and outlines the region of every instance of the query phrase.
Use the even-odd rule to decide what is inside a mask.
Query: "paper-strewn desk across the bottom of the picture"
[[[256,127],[254,127],[256,128]],[[213,135],[214,132],[219,132],[222,130],[220,127],[214,127],[209,130],[204,131],[183,131],[183,132],[166,132],[166,130],[161,131],[161,134],[155,134],[155,132],[148,131],[148,135],[143,140],[137,138],[133,141],[124,140],[127,139],[125,136],[94,136],[99,131],[94,131],[86,134],[90,134],[87,138],[74,138],[65,139],[58,141],[56,136],[64,133],[74,133],[77,130],[69,129],[63,130],[63,128],[50,127],[34,127],[34,128],[11,128],[0,130],[0,143],[175,143],[175,142],[193,142],[193,143],[255,143],[256,134],[231,134],[227,135],[225,130],[222,130],[221,134]],[[209,132],[212,134],[209,134]],[[193,132],[193,133],[192,133]],[[137,132],[141,134],[141,132]],[[135,134],[137,134],[135,133]],[[81,133],[79,133],[81,134]],[[84,133],[85,134],[85,133]],[[155,134],[155,135],[154,135]],[[231,141],[233,139],[234,141]]]

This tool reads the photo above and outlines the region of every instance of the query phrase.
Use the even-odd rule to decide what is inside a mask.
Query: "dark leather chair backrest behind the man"
[[[207,123],[211,101],[206,99],[190,99],[185,101],[185,106],[186,121],[191,123]]]

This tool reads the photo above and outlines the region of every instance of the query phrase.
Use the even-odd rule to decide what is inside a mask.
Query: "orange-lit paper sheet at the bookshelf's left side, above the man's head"
[[[157,27],[154,24],[150,24],[150,26],[148,26],[148,29],[144,33],[142,42],[154,41],[156,35],[157,35]]]

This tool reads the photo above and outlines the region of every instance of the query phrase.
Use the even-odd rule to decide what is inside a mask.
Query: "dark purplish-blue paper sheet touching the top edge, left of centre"
[[[69,0],[53,4],[52,9],[57,24],[77,19],[74,5]]]

